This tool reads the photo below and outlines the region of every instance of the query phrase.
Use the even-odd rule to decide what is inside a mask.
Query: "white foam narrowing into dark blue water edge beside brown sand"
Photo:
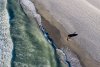
[[[33,16],[34,19],[36,20],[41,32],[43,33],[44,37],[46,38],[46,40],[51,44],[51,46],[54,48],[54,52],[55,54],[57,53],[57,47],[56,44],[54,43],[54,41],[52,40],[52,38],[49,36],[48,32],[44,29],[43,25],[42,25],[42,20],[41,20],[41,16],[40,14],[37,13],[36,8],[34,3],[32,3],[30,0],[19,0],[20,5],[22,6],[24,12],[26,14],[29,14],[30,16]],[[27,12],[28,11],[28,12]],[[59,49],[60,50],[60,49]],[[62,51],[62,50],[61,50]],[[64,53],[63,53],[64,54]],[[61,57],[61,56],[60,56]],[[55,57],[56,60],[59,59],[57,57]],[[59,59],[60,60],[60,59]],[[61,61],[61,60],[60,60]],[[64,63],[66,62],[66,59],[64,59]],[[66,62],[67,63],[67,62]],[[66,64],[65,63],[65,64]],[[67,63],[70,66],[69,63]]]

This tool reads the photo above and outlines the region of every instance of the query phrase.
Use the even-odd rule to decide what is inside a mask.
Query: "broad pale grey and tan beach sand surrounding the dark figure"
[[[51,28],[53,28],[52,26],[55,26],[58,29],[57,32],[60,31],[60,34],[52,34],[53,37],[56,35],[56,37],[54,37],[56,43],[60,42],[59,47],[70,47],[80,58],[83,67],[100,66],[100,63],[97,62],[100,58],[100,46],[98,45],[98,36],[100,35],[100,11],[98,8],[87,1],[79,0],[32,1],[34,1],[39,13],[50,22],[44,23],[45,25],[48,24],[46,27],[51,26]],[[50,33],[52,33],[51,28],[47,28]],[[79,36],[76,37],[76,41],[74,41],[75,38],[66,41],[68,32],[72,33],[74,31],[79,33]]]

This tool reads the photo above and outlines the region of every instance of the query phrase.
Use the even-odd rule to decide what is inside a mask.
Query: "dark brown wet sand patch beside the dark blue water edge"
[[[51,25],[47,20],[45,20],[42,17],[42,23],[44,28],[46,29],[46,31],[49,32],[50,37],[54,40],[54,42],[57,44],[58,48],[63,47],[62,42],[61,42],[61,35],[60,35],[60,31],[53,25]]]

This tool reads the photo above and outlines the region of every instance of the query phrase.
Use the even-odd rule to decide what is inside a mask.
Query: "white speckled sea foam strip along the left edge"
[[[7,0],[0,0],[0,67],[11,67],[13,43],[10,36]],[[2,9],[1,9],[2,8]]]

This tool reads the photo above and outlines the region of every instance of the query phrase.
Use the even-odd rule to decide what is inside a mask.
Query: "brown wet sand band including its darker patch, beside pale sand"
[[[43,22],[43,25],[46,27],[47,31],[56,42],[56,44],[58,44],[57,46],[59,48],[69,47],[78,56],[83,67],[100,66],[100,64],[93,60],[93,58],[87,52],[85,52],[85,50],[81,48],[73,39],[67,41],[66,37],[69,33],[65,32],[64,27],[53,18],[53,16],[49,13],[48,10],[45,9],[45,7],[41,3],[38,3],[36,0],[33,1],[36,8],[38,9],[38,12],[46,19],[46,21]],[[55,31],[58,33],[56,33]]]

